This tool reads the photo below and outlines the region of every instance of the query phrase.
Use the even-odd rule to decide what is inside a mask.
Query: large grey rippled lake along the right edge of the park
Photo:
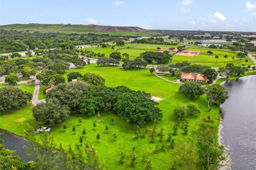
[[[221,105],[221,143],[232,169],[256,169],[256,75],[221,83],[229,99]]]

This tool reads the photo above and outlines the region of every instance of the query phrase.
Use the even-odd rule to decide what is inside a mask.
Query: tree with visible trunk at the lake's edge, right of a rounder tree
[[[219,84],[213,84],[212,86],[206,86],[206,100],[208,103],[209,112],[211,111],[212,105],[220,105],[228,99],[228,92],[225,87]]]

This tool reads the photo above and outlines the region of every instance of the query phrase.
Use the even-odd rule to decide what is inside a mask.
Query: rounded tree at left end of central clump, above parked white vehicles
[[[35,120],[50,126],[66,121],[69,115],[69,107],[61,105],[60,101],[55,98],[33,107]]]

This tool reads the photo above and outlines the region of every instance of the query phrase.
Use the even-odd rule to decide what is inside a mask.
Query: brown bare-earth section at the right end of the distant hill
[[[148,30],[140,27],[115,27],[115,26],[101,26],[97,25],[95,30],[101,32],[121,32],[121,31],[132,31],[132,32],[146,32]]]

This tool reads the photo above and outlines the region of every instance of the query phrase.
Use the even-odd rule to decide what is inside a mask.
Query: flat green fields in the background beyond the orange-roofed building
[[[129,47],[130,48],[127,48]],[[89,47],[89,48],[83,48],[83,50],[91,50],[94,53],[104,53],[106,57],[109,57],[109,54],[112,52],[120,52],[121,54],[127,53],[130,55],[130,60],[134,60],[134,58],[138,57],[140,53],[147,52],[147,51],[153,51],[157,47],[163,48],[170,48],[177,46],[170,46],[170,45],[153,45],[153,44],[125,44],[124,46],[116,46],[115,49],[111,49],[111,47],[108,48],[101,48],[101,47]],[[189,47],[188,50],[197,50],[198,52],[201,52],[198,56],[181,56],[181,55],[173,55],[173,60],[171,63],[177,63],[177,62],[183,62],[183,61],[189,61],[191,63],[200,63],[209,65],[212,67],[220,67],[225,66],[226,63],[234,63],[235,65],[254,65],[253,62],[249,57],[246,57],[248,62],[245,62],[245,59],[243,61],[238,61],[238,57],[236,57],[235,52],[231,51],[225,51],[225,50],[215,50],[215,49],[209,49],[209,48],[191,48]],[[213,52],[212,55],[207,54],[207,51],[211,50]],[[219,56],[219,59],[215,59],[215,55]],[[224,55],[228,55],[228,58],[224,58]],[[232,57],[235,57],[234,60],[232,60]]]

